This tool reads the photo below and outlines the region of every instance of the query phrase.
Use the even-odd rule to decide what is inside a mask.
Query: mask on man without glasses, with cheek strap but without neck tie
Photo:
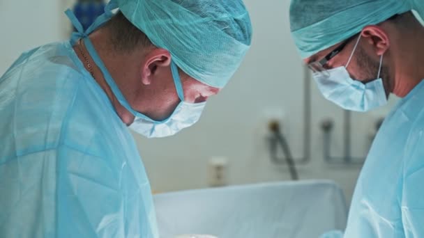
[[[174,113],[169,118],[161,122],[151,120],[150,118],[139,114],[135,117],[134,122],[130,125],[130,129],[142,134],[148,138],[158,138],[165,136],[172,136],[186,127],[194,125],[202,115],[202,111],[206,106],[206,102],[201,103],[188,103],[184,102],[183,88],[181,86],[181,79],[178,74],[176,65],[171,65],[172,76],[176,91],[179,95],[181,102],[176,106]]]

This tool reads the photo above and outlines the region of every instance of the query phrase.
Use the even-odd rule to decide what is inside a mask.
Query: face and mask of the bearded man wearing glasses
[[[383,64],[384,49],[360,46],[361,40],[366,42],[374,30],[365,28],[344,42],[305,58],[321,93],[343,109],[376,109],[387,103],[394,90],[394,77]]]

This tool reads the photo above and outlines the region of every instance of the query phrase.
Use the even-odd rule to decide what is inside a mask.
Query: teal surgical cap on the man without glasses
[[[223,88],[250,48],[252,26],[241,0],[112,0],[185,73]]]

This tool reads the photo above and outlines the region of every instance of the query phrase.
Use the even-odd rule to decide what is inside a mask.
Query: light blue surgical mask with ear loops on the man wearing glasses
[[[351,79],[347,66],[349,65],[356,47],[358,47],[361,35],[356,42],[354,50],[346,66],[327,70],[327,75],[314,73],[313,77],[318,84],[318,88],[327,100],[338,104],[338,106],[349,111],[370,111],[379,106],[387,104],[386,91],[383,80],[380,78],[383,56],[380,58],[379,72],[377,79],[367,84]]]

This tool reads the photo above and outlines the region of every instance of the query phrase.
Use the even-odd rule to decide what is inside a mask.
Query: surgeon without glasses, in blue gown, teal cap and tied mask
[[[112,11],[113,10],[113,11]],[[193,125],[250,48],[241,0],[112,0],[0,78],[0,237],[158,237],[129,128]],[[164,175],[165,176],[165,175]]]

